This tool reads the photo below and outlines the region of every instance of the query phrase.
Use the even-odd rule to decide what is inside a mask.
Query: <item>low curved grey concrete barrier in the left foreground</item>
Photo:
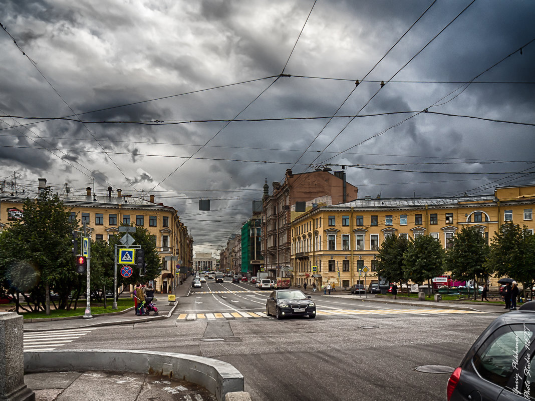
[[[218,401],[243,391],[243,375],[226,362],[174,352],[57,350],[24,353],[24,372],[106,371],[161,374],[198,384]]]

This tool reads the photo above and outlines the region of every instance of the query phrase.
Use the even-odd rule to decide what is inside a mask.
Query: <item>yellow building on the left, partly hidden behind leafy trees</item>
[[[35,198],[39,190],[46,187],[47,180],[40,178],[36,191],[0,190],[0,230],[9,226],[9,222],[19,219],[24,213],[22,203],[27,197]],[[162,203],[155,203],[154,195],[149,200],[123,194],[117,189],[116,194],[111,187],[105,196],[91,195],[91,188],[85,195],[74,195],[65,191],[59,195],[71,216],[81,223],[86,222],[89,236],[93,241],[108,241],[111,235],[118,234],[123,223],[135,223],[138,227],[147,228],[154,238],[158,254],[162,259],[162,274],[155,279],[155,289],[170,292],[179,281],[176,265],[192,267],[193,237],[179,219],[177,211]],[[178,261],[165,260],[165,257],[177,257]],[[185,276],[185,275],[184,275]]]

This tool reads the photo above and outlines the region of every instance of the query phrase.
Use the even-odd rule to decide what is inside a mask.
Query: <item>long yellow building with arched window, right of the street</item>
[[[410,238],[429,234],[445,249],[451,246],[448,239],[462,227],[478,229],[487,241],[507,221],[525,225],[533,234],[534,206],[535,186],[519,186],[496,188],[494,195],[365,197],[310,208],[292,220],[294,285],[315,281],[318,285],[334,282],[337,287],[350,287],[377,281],[378,249],[392,234]],[[369,273],[363,273],[364,267]]]

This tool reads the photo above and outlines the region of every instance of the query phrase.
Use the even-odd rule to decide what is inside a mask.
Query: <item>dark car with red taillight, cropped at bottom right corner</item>
[[[535,399],[535,301],[494,320],[448,380],[448,401]]]

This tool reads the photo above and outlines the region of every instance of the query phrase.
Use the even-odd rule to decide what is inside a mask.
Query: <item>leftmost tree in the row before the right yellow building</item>
[[[381,244],[377,254],[377,275],[387,277],[389,281],[407,284],[407,294],[410,294],[407,276],[403,271],[403,253],[407,250],[407,238],[389,235]],[[403,291],[403,288],[401,289]]]

